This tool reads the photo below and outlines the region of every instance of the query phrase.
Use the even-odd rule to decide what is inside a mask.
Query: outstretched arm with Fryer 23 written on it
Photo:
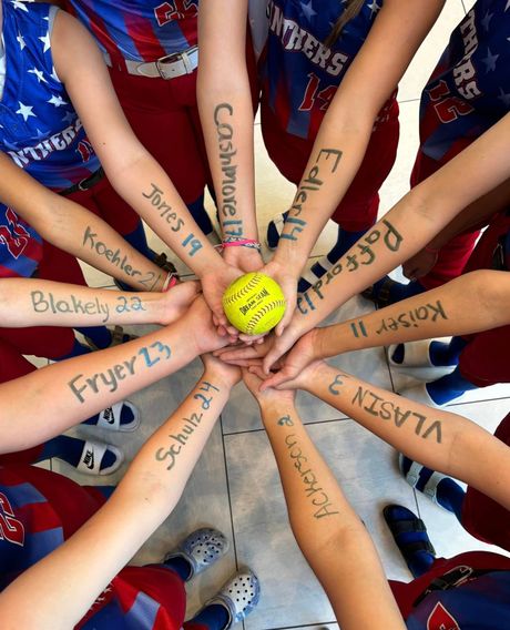
[[[3,383],[0,453],[42,444],[227,343],[200,296],[184,317],[155,333]]]

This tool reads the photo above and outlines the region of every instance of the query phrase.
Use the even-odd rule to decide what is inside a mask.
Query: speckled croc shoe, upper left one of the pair
[[[165,556],[164,562],[173,558],[184,558],[191,567],[187,578],[191,579],[225,556],[228,548],[228,540],[221,531],[212,527],[204,527],[190,534],[177,549]]]

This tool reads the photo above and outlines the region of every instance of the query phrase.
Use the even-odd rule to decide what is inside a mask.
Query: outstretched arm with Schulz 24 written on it
[[[74,628],[174,509],[239,376],[236,368],[205,359],[198,383],[145,443],[108,502],[0,595],[6,630]],[[26,604],[27,593],[37,606]]]

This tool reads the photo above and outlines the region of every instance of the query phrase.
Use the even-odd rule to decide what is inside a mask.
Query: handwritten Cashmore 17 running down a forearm
[[[234,108],[230,103],[220,103],[214,109],[214,124],[216,125],[220,163],[222,165],[222,197],[220,211],[226,221],[223,221],[225,234],[242,236],[243,221],[237,216],[237,164],[233,158],[237,154],[234,145],[234,128],[225,122],[234,115]]]

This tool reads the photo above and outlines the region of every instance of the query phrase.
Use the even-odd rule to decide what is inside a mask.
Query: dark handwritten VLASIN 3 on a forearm
[[[335,378],[328,386],[329,393],[334,396],[340,396],[343,394],[341,387],[344,385],[344,378],[347,376],[345,374],[336,374]],[[406,409],[406,399],[401,399],[401,405],[396,405],[391,400],[386,400],[382,396],[378,396],[368,388],[358,386],[356,394],[351,398],[350,403],[357,405],[360,409],[380,418],[381,420],[392,421],[397,428],[400,428],[406,423],[416,423],[415,434],[422,437],[424,439],[432,436],[432,439],[437,444],[441,444],[442,440],[442,424],[440,420],[431,420],[422,414],[418,414],[411,409]],[[356,419],[356,418],[355,418]]]

